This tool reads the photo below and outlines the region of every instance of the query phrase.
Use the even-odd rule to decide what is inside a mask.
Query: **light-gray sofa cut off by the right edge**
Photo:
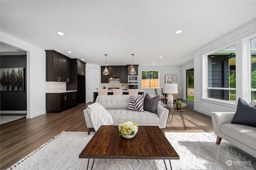
[[[256,101],[250,103],[256,106]],[[225,139],[232,145],[256,158],[256,127],[233,124],[235,112],[212,112],[212,124],[217,135],[217,144]]]

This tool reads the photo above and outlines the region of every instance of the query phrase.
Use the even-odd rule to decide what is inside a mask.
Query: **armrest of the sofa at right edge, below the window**
[[[212,112],[212,125],[214,133],[219,136],[220,125],[225,123],[231,123],[235,112]]]

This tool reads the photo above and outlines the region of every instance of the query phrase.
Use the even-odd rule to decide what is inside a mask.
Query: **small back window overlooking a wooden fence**
[[[141,71],[141,88],[159,88],[159,71]]]

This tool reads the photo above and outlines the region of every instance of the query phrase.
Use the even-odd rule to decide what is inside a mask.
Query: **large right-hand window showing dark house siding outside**
[[[236,100],[236,46],[207,56],[207,97]]]

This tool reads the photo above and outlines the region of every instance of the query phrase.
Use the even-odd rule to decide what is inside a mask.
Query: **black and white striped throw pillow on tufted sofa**
[[[129,104],[127,110],[144,111],[144,94],[142,96],[130,95]]]

